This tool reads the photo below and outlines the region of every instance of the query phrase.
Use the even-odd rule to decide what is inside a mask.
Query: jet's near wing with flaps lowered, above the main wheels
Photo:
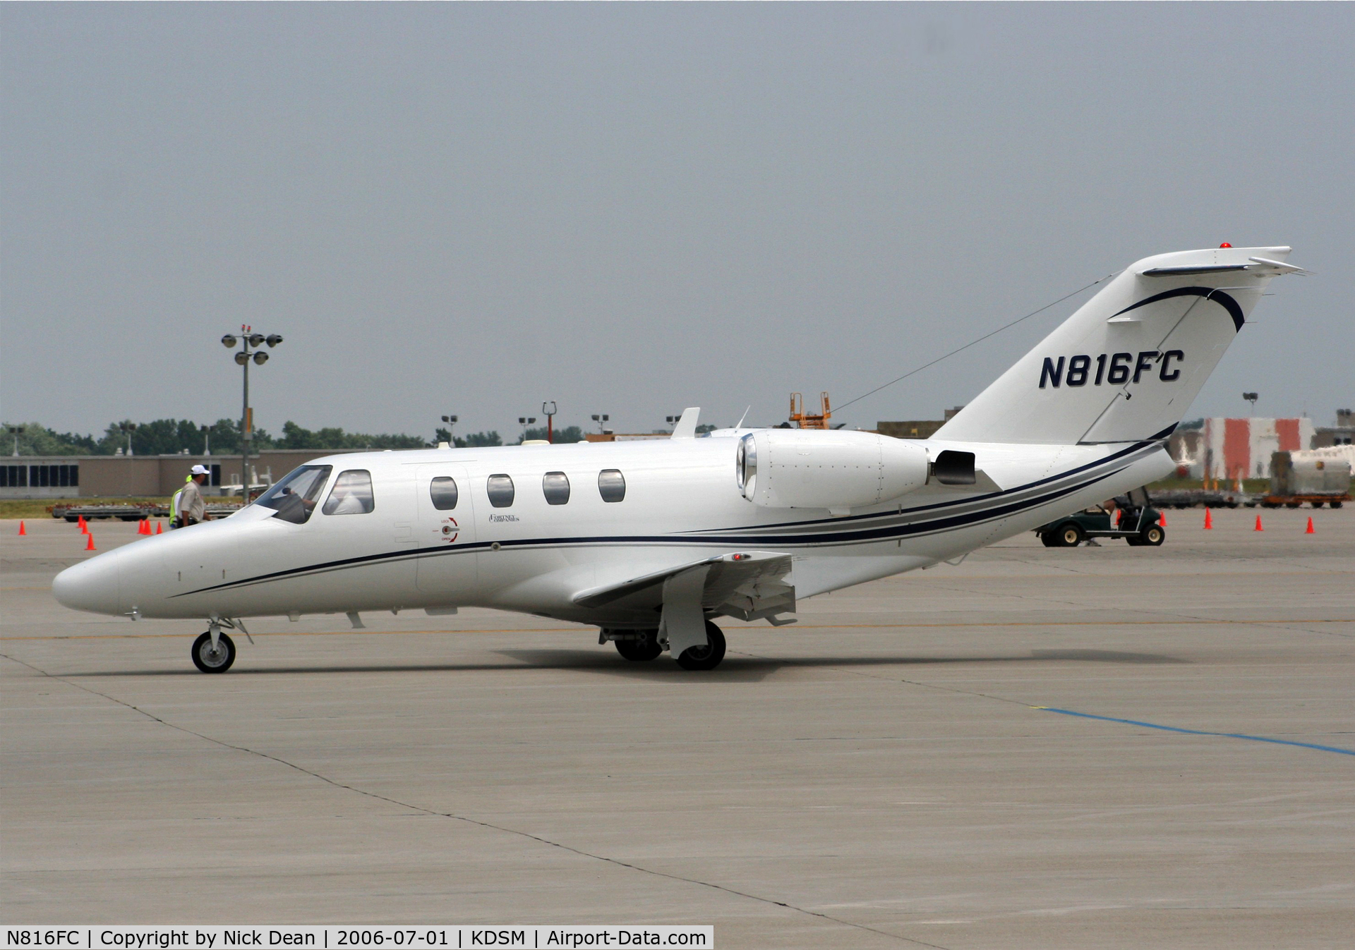
[[[775,551],[747,551],[684,562],[581,590],[575,594],[573,601],[585,608],[622,600],[626,601],[625,606],[659,606],[663,602],[664,582],[692,570],[705,570],[701,605],[707,610],[740,620],[757,620],[795,609],[795,586],[790,579],[791,556]]]

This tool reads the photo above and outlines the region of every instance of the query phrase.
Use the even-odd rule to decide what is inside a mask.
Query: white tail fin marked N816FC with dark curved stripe
[[[1163,438],[1272,277],[1301,268],[1289,248],[1145,257],[1111,280],[935,438],[1056,445]]]

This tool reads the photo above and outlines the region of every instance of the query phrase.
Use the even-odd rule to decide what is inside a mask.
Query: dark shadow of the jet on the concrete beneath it
[[[505,663],[363,663],[356,666],[236,666],[228,677],[249,675],[299,675],[352,673],[537,673],[546,670],[579,670],[602,673],[625,679],[671,681],[718,681],[757,682],[780,670],[813,670],[832,667],[927,667],[954,663],[1131,663],[1163,664],[1190,663],[1191,660],[1161,654],[1133,654],[1117,650],[1033,650],[1027,654],[1000,656],[747,656],[730,651],[718,670],[690,673],[676,663],[654,660],[652,663],[631,663],[607,650],[496,650]],[[92,673],[69,673],[65,677],[201,677],[192,669],[183,670],[100,670]]]

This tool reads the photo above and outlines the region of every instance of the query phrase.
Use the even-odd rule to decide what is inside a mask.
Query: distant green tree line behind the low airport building
[[[14,436],[9,428],[23,425],[19,434],[19,455],[117,455],[126,452],[130,441],[133,455],[202,455],[211,448],[213,455],[240,453],[240,424],[237,420],[217,420],[210,432],[192,420],[154,420],[138,422],[131,420],[110,422],[102,436],[81,436],[73,432],[56,432],[41,422],[5,422],[0,434],[8,437],[5,455],[14,451]],[[545,429],[527,429],[526,438],[545,438]],[[556,429],[557,443],[580,443],[584,432],[577,425]],[[434,433],[434,441],[423,436],[404,433],[346,432],[337,426],[304,429],[293,421],[282,424],[282,432],[272,434],[267,429],[255,429],[251,436],[251,451],[263,449],[409,449],[432,448],[438,443],[453,441],[446,429]],[[497,430],[472,432],[455,437],[457,448],[478,448],[482,445],[503,445]],[[514,444],[520,443],[515,440]]]

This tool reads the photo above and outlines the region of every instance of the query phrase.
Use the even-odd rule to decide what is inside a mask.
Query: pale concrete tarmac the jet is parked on
[[[725,623],[714,673],[465,610],[256,621],[220,677],[0,521],[0,916],[1351,946],[1355,512],[1167,517]]]

